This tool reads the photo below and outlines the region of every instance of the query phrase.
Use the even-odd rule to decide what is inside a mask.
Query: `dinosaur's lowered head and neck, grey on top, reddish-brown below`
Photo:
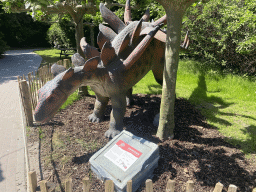
[[[84,66],[69,68],[58,74],[53,80],[48,81],[38,91],[38,103],[35,108],[35,121],[38,123],[48,122],[67,100],[68,96],[75,92],[81,85],[82,78],[93,78],[93,74],[99,58],[88,60]]]

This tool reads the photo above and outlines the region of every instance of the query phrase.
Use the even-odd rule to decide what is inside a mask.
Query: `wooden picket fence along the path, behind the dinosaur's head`
[[[66,69],[71,66],[69,59],[60,60],[57,64],[63,65]],[[38,102],[38,90],[53,79],[51,65],[45,65],[35,72],[28,73],[27,78],[25,75],[18,76],[18,83],[27,126],[33,126],[32,114]]]

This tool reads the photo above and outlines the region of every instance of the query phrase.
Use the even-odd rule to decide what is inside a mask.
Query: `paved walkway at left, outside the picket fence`
[[[0,59],[0,192],[26,191],[24,120],[17,76],[37,70],[33,50],[7,51]]]

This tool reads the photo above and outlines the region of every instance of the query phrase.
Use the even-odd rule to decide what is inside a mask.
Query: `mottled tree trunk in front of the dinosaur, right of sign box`
[[[163,5],[167,15],[167,39],[165,50],[165,68],[163,73],[162,100],[160,107],[157,136],[160,139],[172,139],[174,122],[175,88],[179,63],[181,26],[184,11],[175,9],[172,4]]]

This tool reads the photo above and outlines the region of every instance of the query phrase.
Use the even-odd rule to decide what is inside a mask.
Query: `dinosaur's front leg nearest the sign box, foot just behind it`
[[[111,97],[112,111],[110,114],[109,130],[106,131],[105,136],[113,138],[123,130],[123,118],[126,109],[125,95]]]

